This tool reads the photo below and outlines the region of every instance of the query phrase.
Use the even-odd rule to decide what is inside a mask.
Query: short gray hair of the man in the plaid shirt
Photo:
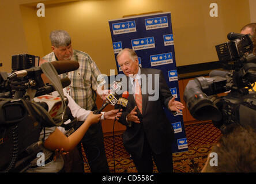
[[[50,33],[51,45],[54,47],[66,47],[71,44],[71,37],[66,30],[52,30]]]

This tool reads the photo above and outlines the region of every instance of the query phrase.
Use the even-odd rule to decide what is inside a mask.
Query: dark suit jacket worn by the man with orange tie
[[[141,68],[141,75],[146,74],[147,76],[147,89],[148,84],[152,83],[154,88],[155,79],[154,75],[159,74],[159,98],[156,101],[149,101],[148,97],[150,94],[142,94],[142,114],[137,108],[137,116],[140,118],[140,124],[126,122],[126,116],[131,110],[137,106],[133,94],[129,93],[128,104],[124,109],[119,122],[126,125],[126,131],[123,134],[123,144],[126,150],[131,155],[135,155],[138,158],[142,155],[142,148],[144,144],[144,133],[148,139],[149,145],[155,154],[160,154],[167,148],[172,146],[174,140],[174,129],[168,118],[165,116],[163,106],[168,108],[168,102],[172,98],[171,91],[165,82],[163,73],[161,70],[152,68]],[[148,78],[148,74],[152,74],[152,79]],[[127,77],[127,86],[129,91],[132,89],[129,78]],[[152,95],[153,96],[153,95]]]

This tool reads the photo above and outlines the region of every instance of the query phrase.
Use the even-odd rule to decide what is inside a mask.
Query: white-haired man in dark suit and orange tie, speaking
[[[116,59],[127,77],[129,89],[128,104],[119,118],[127,127],[123,144],[138,172],[152,173],[153,160],[159,172],[172,172],[174,129],[163,106],[175,113],[184,106],[175,101],[161,70],[139,67],[138,56],[132,49],[123,49]],[[155,97],[148,85],[155,86]]]

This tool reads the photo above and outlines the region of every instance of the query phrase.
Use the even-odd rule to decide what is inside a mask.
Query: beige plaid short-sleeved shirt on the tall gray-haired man
[[[54,52],[42,57],[42,59],[48,62],[57,60]],[[70,60],[79,62],[80,67],[78,70],[59,75],[59,78],[68,77],[71,81],[69,86],[70,96],[82,108],[92,110],[96,104],[97,86],[101,83],[97,81],[97,76],[101,74],[100,70],[92,58],[85,52],[73,49],[73,56]]]

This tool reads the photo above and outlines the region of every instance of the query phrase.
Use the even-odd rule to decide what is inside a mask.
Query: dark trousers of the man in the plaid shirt
[[[109,173],[101,122],[91,125],[81,140],[92,173]],[[81,152],[81,144],[78,144]]]

